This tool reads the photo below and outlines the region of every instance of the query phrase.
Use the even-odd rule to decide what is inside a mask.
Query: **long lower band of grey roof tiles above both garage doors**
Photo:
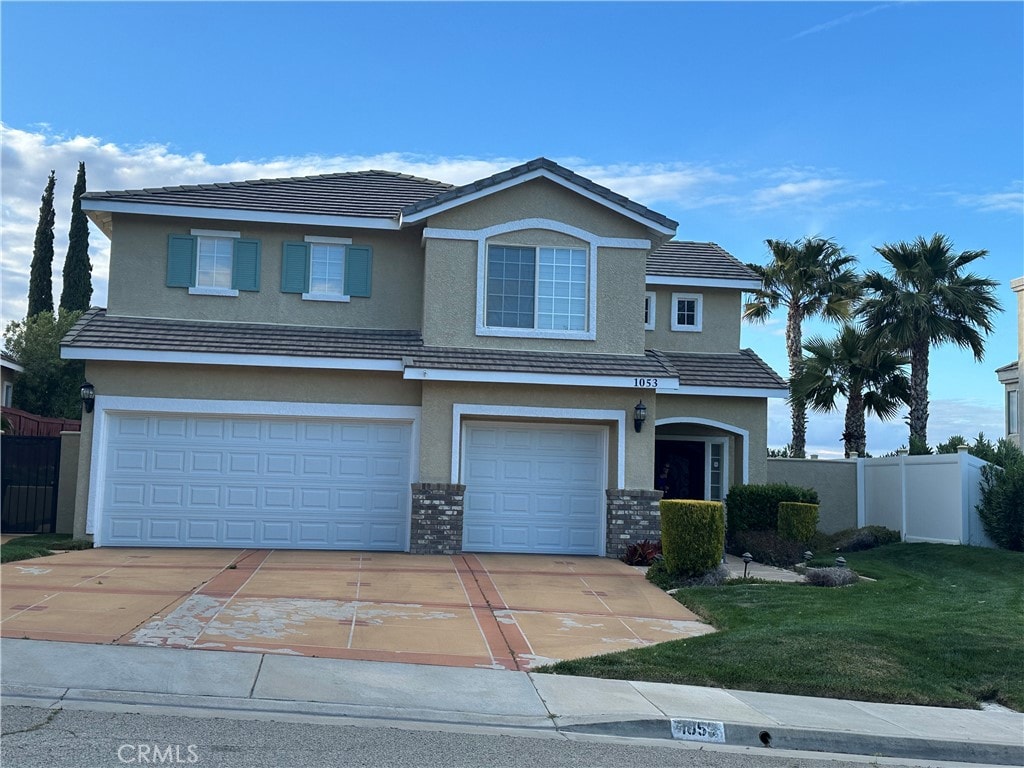
[[[103,309],[83,314],[60,343],[79,349],[393,359],[409,368],[445,371],[678,375],[683,386],[785,388],[778,374],[749,349],[722,354],[647,350],[641,356],[428,347],[418,331],[121,317]]]

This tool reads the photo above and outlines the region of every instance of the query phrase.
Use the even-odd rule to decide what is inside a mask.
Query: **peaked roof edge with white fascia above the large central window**
[[[528,163],[509,168],[507,171],[501,171],[478,181],[440,193],[429,200],[413,203],[402,211],[402,219],[408,222],[421,221],[433,214],[465,205],[478,198],[493,195],[535,178],[547,178],[554,181],[663,234],[674,234],[676,227],[679,226],[679,222],[668,216],[635,203],[624,195],[601,186],[547,158],[537,158]]]

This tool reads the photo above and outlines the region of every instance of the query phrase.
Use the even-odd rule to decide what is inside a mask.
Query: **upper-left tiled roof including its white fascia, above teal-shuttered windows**
[[[441,181],[393,171],[357,171],[87,193],[82,196],[82,207],[86,211],[219,216],[243,221],[351,225],[353,222],[345,220],[371,219],[377,220],[378,226],[397,229],[403,208],[451,188]],[[309,221],[309,217],[323,221]]]

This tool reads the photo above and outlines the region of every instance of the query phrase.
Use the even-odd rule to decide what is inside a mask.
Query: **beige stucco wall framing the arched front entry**
[[[749,432],[748,481],[765,482],[768,455],[768,401],[758,397],[710,397],[659,394],[654,407],[647,412],[649,422],[662,419],[706,419],[727,424]],[[663,425],[664,434],[716,435],[729,434],[713,426],[696,423]],[[742,482],[743,440],[732,433],[729,441],[729,484]],[[653,482],[653,477],[651,478]]]

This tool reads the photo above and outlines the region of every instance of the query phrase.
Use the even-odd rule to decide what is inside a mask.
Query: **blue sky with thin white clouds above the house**
[[[465,182],[546,156],[764,262],[766,238],[987,249],[1010,311],[982,364],[932,356],[933,442],[1002,433],[1024,274],[1022,3],[19,3],[0,5],[4,321],[25,311],[57,171],[55,292],[89,188],[365,168]],[[91,234],[94,303],[108,246]],[[828,332],[811,324],[806,334]],[[782,317],[743,344],[785,372]],[[841,415],[811,450],[840,450]],[[769,442],[788,440],[772,404]],[[868,450],[906,441],[872,423]]]

